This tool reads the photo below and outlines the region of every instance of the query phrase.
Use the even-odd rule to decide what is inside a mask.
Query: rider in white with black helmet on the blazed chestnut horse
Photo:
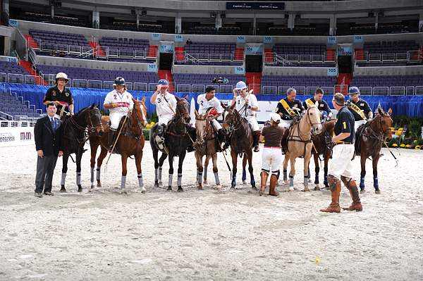
[[[113,148],[116,130],[123,116],[128,115],[134,106],[133,96],[126,92],[125,79],[116,77],[114,90],[107,94],[103,107],[109,109],[110,129],[109,129],[109,151]]]

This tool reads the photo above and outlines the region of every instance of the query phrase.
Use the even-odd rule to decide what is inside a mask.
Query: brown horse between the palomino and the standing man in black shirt
[[[322,125],[322,130],[319,134],[312,134],[312,154],[314,158],[314,190],[320,190],[319,187],[319,156],[323,155],[324,159],[324,181],[323,184],[325,187],[329,187],[328,184],[328,162],[331,158],[331,137],[333,135],[333,130],[335,129],[336,119],[327,120]]]

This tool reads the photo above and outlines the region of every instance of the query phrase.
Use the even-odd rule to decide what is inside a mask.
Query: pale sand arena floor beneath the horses
[[[183,167],[185,192],[154,188],[149,145],[142,160],[146,194],[136,192],[133,160],[128,194],[116,192],[116,155],[107,174],[102,170],[103,188],[87,192],[87,152],[84,192],[76,192],[70,163],[68,193],[59,193],[59,160],[54,196],[39,199],[33,196],[35,147],[0,148],[0,280],[423,280],[423,151],[395,151],[398,167],[383,152],[382,193],[374,194],[368,161],[364,211],[327,214],[319,208],[329,204],[329,191],[260,197],[239,185],[240,171],[240,189],[229,192],[222,156],[221,190],[212,189],[210,166],[209,185],[196,189],[193,153]],[[254,154],[257,185],[260,156]],[[359,177],[358,159],[354,166]],[[167,168],[166,161],[165,182]],[[302,160],[296,168],[301,189]],[[176,188],[176,175],[173,180]],[[349,204],[343,187],[341,206]]]

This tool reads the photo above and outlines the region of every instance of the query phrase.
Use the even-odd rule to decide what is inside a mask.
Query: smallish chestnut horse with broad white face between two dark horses
[[[216,152],[216,135],[214,134],[213,125],[207,118],[207,113],[198,114],[195,111],[195,130],[197,133],[197,141],[195,142],[195,160],[197,161],[197,183],[198,189],[202,189],[202,175],[204,170],[204,184],[207,183],[207,166],[210,158],[213,162],[214,180],[216,180],[216,188],[220,188],[219,174],[217,172],[217,152]],[[204,160],[204,169],[202,158]]]

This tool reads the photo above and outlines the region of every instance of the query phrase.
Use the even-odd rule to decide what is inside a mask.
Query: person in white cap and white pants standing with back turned
[[[270,125],[262,129],[260,140],[264,141],[264,149],[262,154],[262,173],[260,174],[260,196],[262,196],[264,189],[266,189],[269,174],[271,174],[269,195],[279,195],[275,189],[280,174],[279,167],[282,163],[281,140],[283,132],[285,132],[279,126],[279,123],[281,123],[281,116],[278,113],[270,113]]]

